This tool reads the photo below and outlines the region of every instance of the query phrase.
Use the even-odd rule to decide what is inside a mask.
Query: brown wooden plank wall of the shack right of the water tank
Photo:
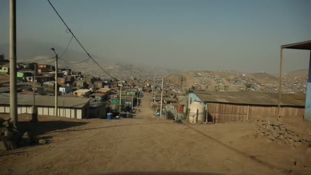
[[[246,105],[228,103],[208,103],[208,118],[216,123],[227,123],[236,121],[251,121],[254,116],[275,116],[277,106]],[[281,116],[300,116],[304,114],[304,107],[281,107]]]

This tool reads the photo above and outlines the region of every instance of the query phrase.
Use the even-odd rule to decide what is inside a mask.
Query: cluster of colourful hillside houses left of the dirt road
[[[36,67],[36,79],[34,80],[34,70]],[[53,65],[31,63],[17,63],[17,93],[29,101],[19,100],[19,114],[30,113],[32,107],[33,93],[36,93],[36,103],[39,115],[54,115],[54,93],[55,83],[58,85],[58,95],[60,96],[58,107],[60,117],[69,118],[105,118],[106,107],[115,100],[119,104],[120,85],[124,90],[123,102],[132,105],[132,101],[137,102],[137,89],[131,89],[136,85],[126,81],[113,81],[112,79],[102,79],[81,72],[73,71],[69,68],[55,70]],[[0,65],[0,73],[9,76],[9,64],[5,62]],[[57,80],[55,81],[55,71]],[[33,88],[35,81],[35,88]],[[9,93],[9,82],[0,84],[0,93]],[[6,95],[6,94],[3,94]],[[114,95],[112,97],[112,95]],[[9,96],[9,94],[7,94]],[[115,97],[116,96],[116,97]],[[112,97],[112,99],[110,99]],[[127,99],[126,99],[127,98]],[[74,103],[75,102],[75,103]],[[72,104],[78,104],[74,106]],[[137,104],[137,103],[135,103]],[[70,106],[72,105],[72,106]],[[42,106],[42,107],[41,107]],[[81,110],[76,110],[76,108]],[[6,98],[0,99],[0,113],[9,113],[9,102]],[[75,108],[75,109],[73,109]]]

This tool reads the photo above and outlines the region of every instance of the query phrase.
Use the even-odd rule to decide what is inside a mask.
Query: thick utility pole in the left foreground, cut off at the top
[[[16,93],[16,1],[10,0],[9,12],[9,60],[10,60],[10,118],[17,122]]]

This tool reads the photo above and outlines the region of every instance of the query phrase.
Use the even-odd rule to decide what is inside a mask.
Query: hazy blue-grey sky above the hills
[[[279,46],[311,39],[308,0],[51,2],[92,54],[139,65],[277,73]],[[0,1],[0,21],[5,43],[8,1]],[[17,1],[17,40],[65,47],[70,37],[47,1]],[[284,71],[308,60],[308,51],[285,50]]]

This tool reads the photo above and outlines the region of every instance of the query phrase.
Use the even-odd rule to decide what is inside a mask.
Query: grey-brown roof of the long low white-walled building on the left
[[[35,96],[35,102],[37,106],[55,106],[54,96]],[[58,97],[59,107],[83,107],[90,98],[79,98],[79,97]],[[10,94],[1,93],[0,94],[0,104],[10,105]],[[33,105],[32,95],[17,95],[17,105]]]

